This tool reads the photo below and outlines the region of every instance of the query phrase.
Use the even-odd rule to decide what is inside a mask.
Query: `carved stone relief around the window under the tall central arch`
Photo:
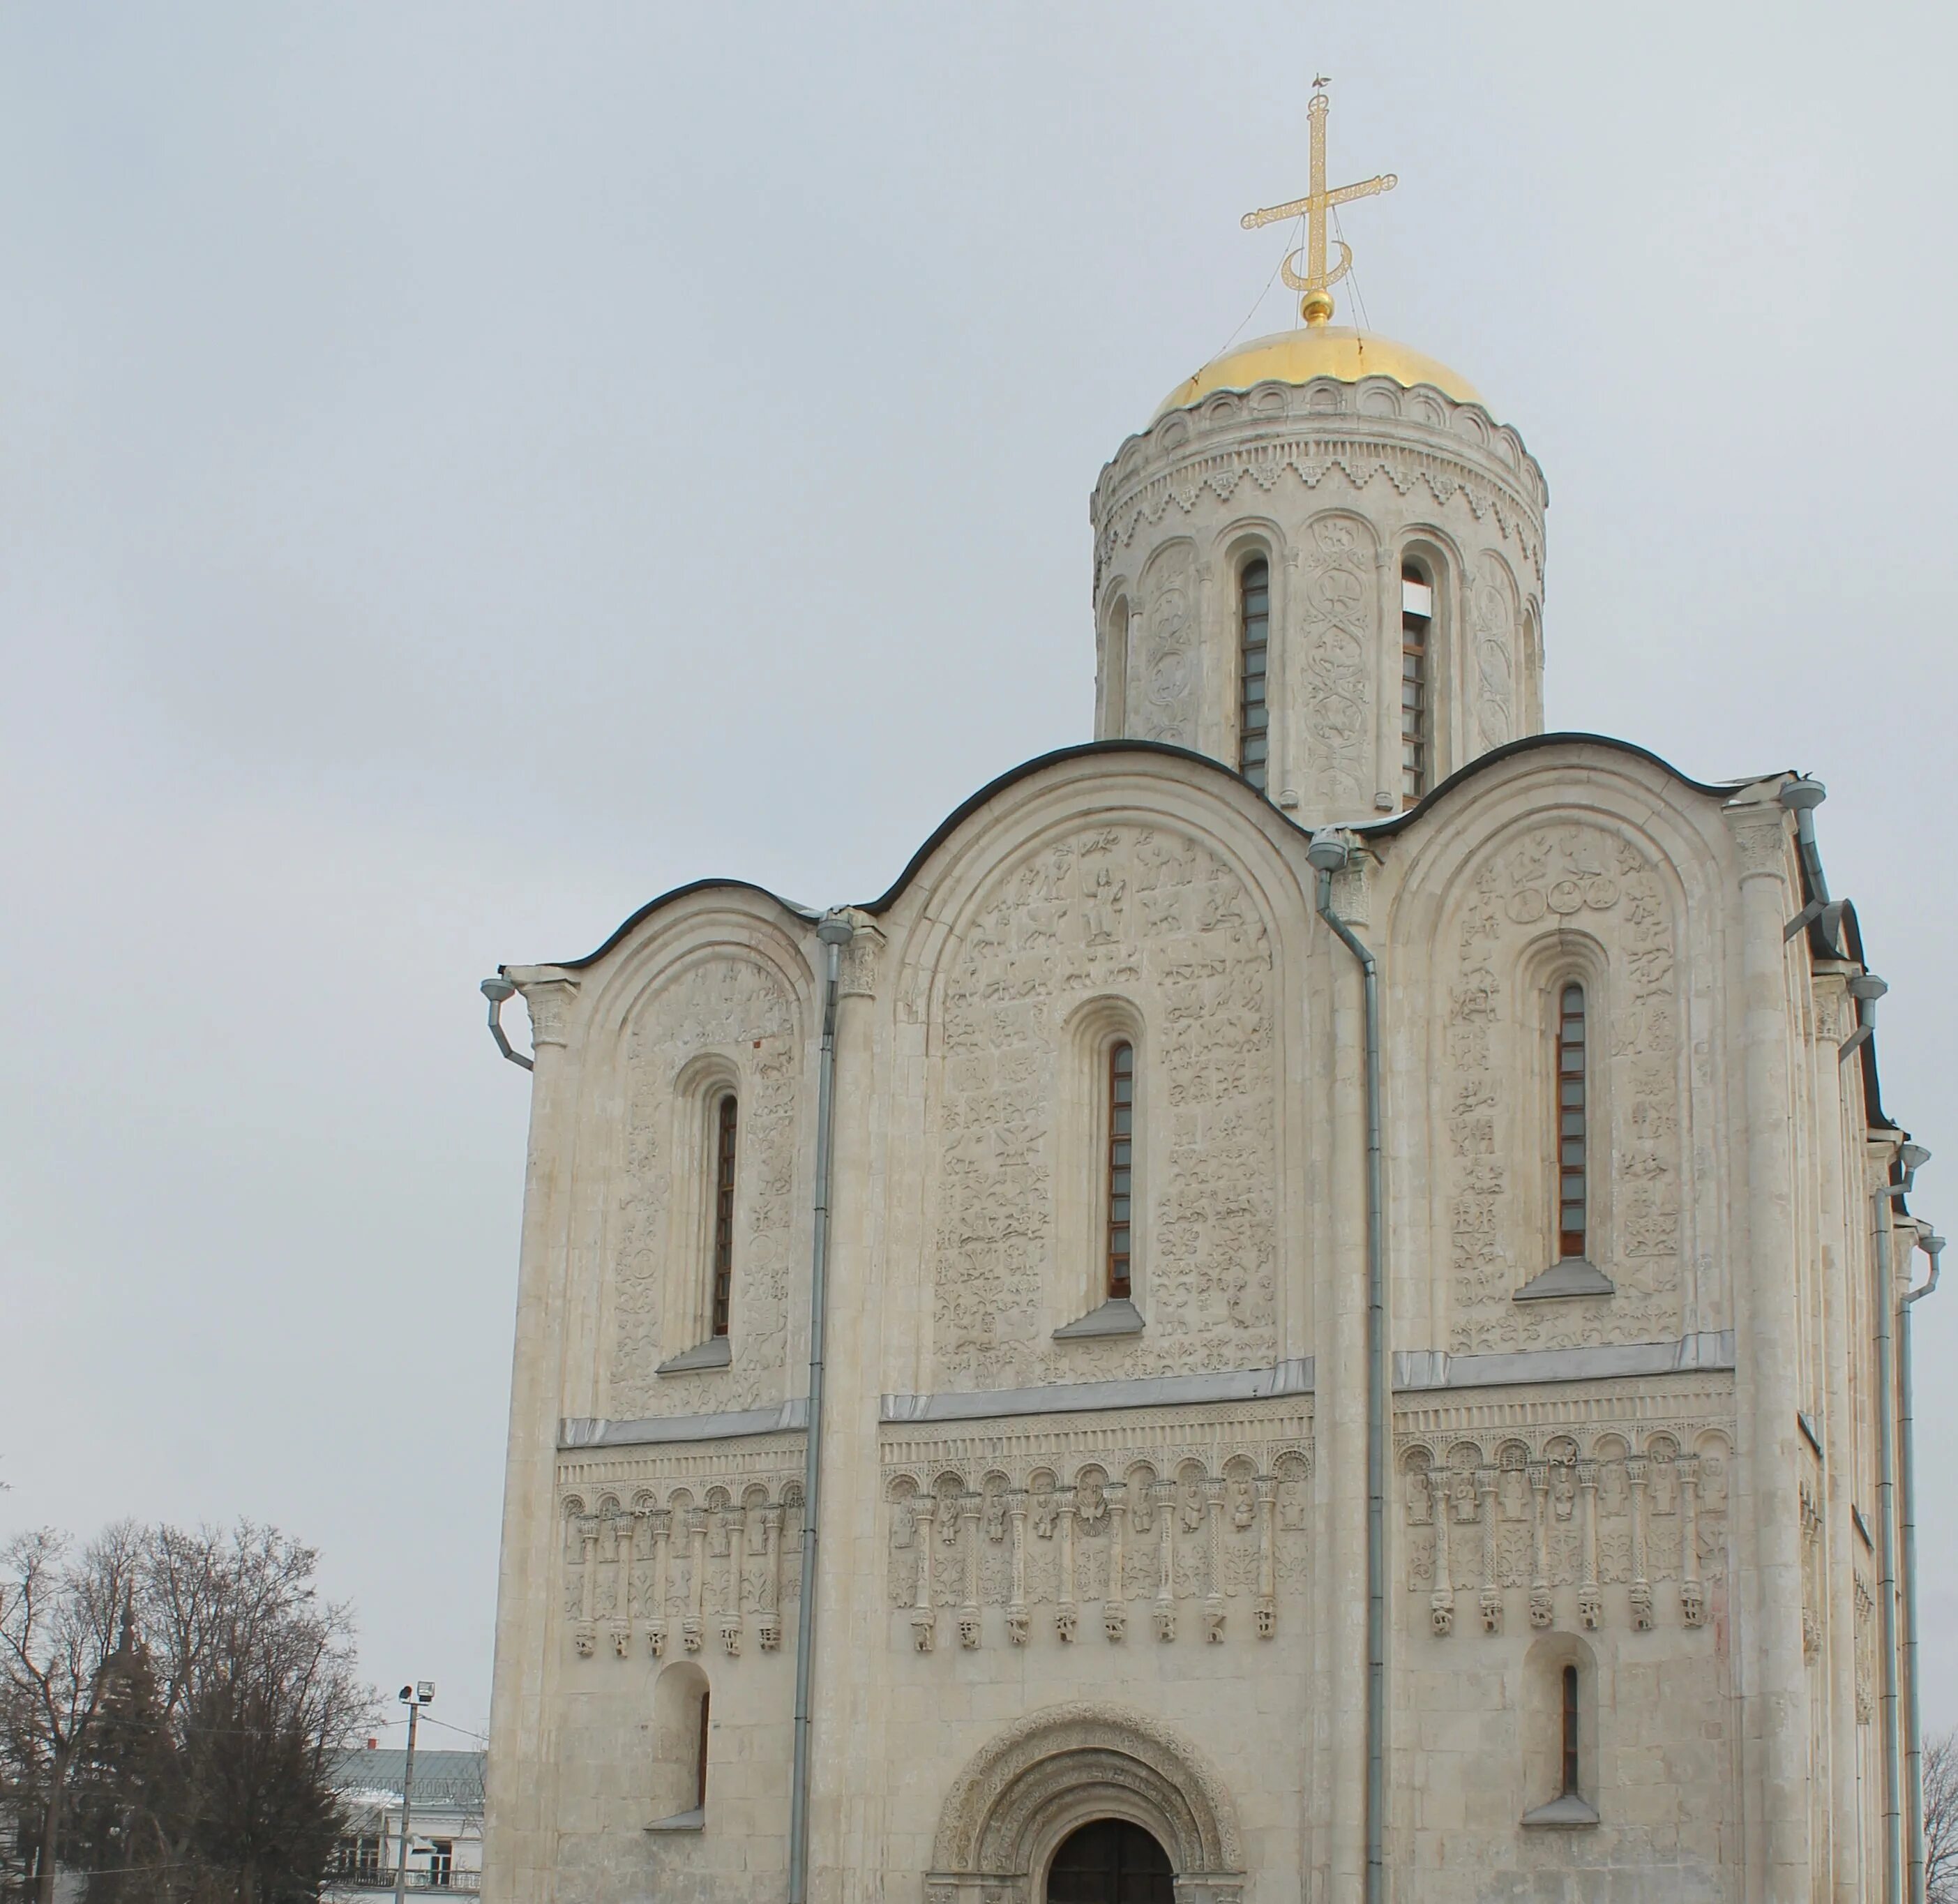
[[[1055,1105],[1069,1013],[1140,1013],[1140,1277],[1147,1336],[1098,1375],[1253,1367],[1275,1354],[1271,944],[1237,874],[1167,827],[1095,827],[1002,868],[944,977],[934,1119],[936,1379],[1018,1387],[1049,1340]]]

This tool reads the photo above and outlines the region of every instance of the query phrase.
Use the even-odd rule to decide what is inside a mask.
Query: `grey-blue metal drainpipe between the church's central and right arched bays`
[[[1318,911],[1359,960],[1367,999],[1367,1904],[1386,1898],[1386,1197],[1380,1175],[1380,976],[1373,952],[1333,911],[1333,874],[1347,842],[1331,827],[1312,834],[1306,862]]]

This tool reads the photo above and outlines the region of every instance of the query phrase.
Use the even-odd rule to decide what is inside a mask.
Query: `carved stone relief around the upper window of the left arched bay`
[[[676,1089],[691,1058],[724,1054],[740,1077],[734,1238],[736,1354],[683,1389],[654,1369],[693,1348],[662,1316],[672,1275],[693,1271],[687,1207],[674,1181]],[[748,1408],[781,1393],[789,1236],[795,1205],[795,1087],[801,1052],[781,979],[736,952],[697,964],[640,1005],[627,1044],[625,1187],[619,1195],[611,1412],[621,1418]],[[705,1260],[699,1273],[707,1273]],[[685,1330],[677,1330],[685,1332]]]

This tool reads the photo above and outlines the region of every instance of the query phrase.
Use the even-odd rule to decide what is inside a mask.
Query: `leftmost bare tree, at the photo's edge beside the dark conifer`
[[[37,1904],[55,1904],[69,1781],[102,1710],[139,1553],[141,1534],[127,1524],[80,1555],[47,1528],[0,1549],[0,1753],[33,1826]]]

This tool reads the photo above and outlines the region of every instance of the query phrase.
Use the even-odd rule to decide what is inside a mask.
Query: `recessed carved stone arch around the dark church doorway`
[[[926,1904],[1046,1904],[1057,1853],[1095,1824],[1145,1832],[1177,1904],[1239,1904],[1243,1845],[1216,1773],[1157,1720],[1087,1702],[1030,1712],[954,1781]]]

